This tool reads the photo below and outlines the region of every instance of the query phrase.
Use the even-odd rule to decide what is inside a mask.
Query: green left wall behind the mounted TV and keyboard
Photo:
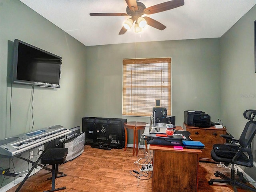
[[[0,139],[32,129],[32,86],[10,83],[16,38],[63,58],[61,88],[34,87],[33,130],[55,124],[68,129],[82,128],[86,107],[86,46],[22,2],[0,0]],[[34,155],[37,152],[35,150]],[[28,153],[22,156],[28,158]],[[28,170],[28,163],[17,158],[13,160],[16,172]],[[0,159],[0,167],[8,168],[10,165],[9,159]],[[1,184],[2,179],[0,176]],[[2,186],[13,184],[12,180],[5,179]]]

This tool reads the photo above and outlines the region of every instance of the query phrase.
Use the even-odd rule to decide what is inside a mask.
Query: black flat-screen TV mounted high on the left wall
[[[62,57],[14,40],[12,82],[60,88]]]

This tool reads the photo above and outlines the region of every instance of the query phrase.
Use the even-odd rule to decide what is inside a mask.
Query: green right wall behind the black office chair
[[[220,38],[221,116],[235,138],[240,137],[248,122],[243,112],[256,109],[255,20],[256,6]],[[252,142],[252,150],[255,159],[256,137]],[[255,161],[253,168],[243,169],[248,176],[256,180]]]

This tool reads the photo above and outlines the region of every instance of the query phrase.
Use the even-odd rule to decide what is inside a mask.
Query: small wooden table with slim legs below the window
[[[125,146],[124,146],[124,151],[126,151],[126,146],[127,146],[127,129],[132,129],[133,130],[133,156],[134,156],[134,150],[135,150],[135,142],[136,142],[136,156],[138,156],[138,130],[145,129],[146,127],[145,122],[139,122],[139,121],[130,121],[124,123],[124,132],[125,132]]]

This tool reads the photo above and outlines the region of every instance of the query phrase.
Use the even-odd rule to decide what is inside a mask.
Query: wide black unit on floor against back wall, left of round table
[[[84,144],[107,144],[112,148],[123,148],[125,144],[124,122],[119,118],[82,118],[82,131],[85,133]]]

